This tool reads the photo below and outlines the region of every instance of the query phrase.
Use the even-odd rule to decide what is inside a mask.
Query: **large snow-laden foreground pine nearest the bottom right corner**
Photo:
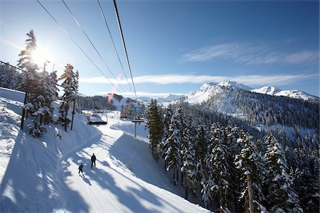
[[[265,137],[267,176],[266,182],[268,206],[272,212],[303,212],[299,206],[299,197],[294,192],[287,172],[287,160],[281,144],[270,132]]]

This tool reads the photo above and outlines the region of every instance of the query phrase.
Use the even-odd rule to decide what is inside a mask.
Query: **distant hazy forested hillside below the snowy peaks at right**
[[[253,126],[280,124],[319,129],[319,102],[221,87],[221,91],[212,94],[206,104],[225,114],[241,115]]]

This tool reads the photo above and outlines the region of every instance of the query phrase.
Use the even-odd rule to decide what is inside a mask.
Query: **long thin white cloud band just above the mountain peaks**
[[[272,85],[282,86],[293,84],[302,80],[319,78],[319,73],[299,74],[299,75],[238,75],[238,76],[213,76],[213,75],[143,75],[134,77],[135,84],[201,84],[206,82],[222,82],[231,80],[246,84],[247,86]],[[110,81],[116,84],[114,79]],[[106,83],[110,82],[105,77],[80,78],[82,83]],[[127,84],[127,80],[119,80],[119,84]]]

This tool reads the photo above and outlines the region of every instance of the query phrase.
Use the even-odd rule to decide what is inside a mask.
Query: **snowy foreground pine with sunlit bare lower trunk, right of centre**
[[[250,136],[245,135],[244,143],[245,147],[235,157],[235,165],[242,174],[244,186],[240,199],[245,200],[246,212],[265,212],[266,209],[262,205],[262,177],[265,173],[262,156],[257,151],[255,143],[250,140]]]

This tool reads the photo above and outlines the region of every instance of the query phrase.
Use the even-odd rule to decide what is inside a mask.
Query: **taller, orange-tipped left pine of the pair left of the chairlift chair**
[[[57,122],[62,124],[65,127],[65,131],[67,131],[67,128],[70,124],[70,119],[68,118],[68,111],[70,109],[70,103],[74,101],[75,99],[75,74],[73,72],[73,65],[67,64],[65,66],[65,72],[60,77],[60,80],[64,80],[61,84],[61,87],[63,87],[63,101],[60,102],[59,107],[59,117],[57,119]]]

